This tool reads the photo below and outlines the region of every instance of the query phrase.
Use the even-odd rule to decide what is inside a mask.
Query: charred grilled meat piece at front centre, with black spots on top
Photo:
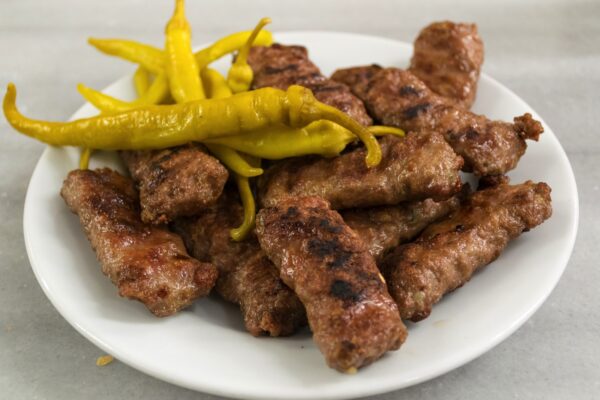
[[[326,201],[294,198],[262,209],[256,232],[304,303],[330,367],[353,372],[404,342],[406,328],[375,260]]]

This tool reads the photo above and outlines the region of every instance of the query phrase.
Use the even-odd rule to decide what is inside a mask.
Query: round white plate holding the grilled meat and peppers
[[[293,32],[276,38],[307,46],[325,74],[374,62],[406,66],[411,55],[408,44],[354,34]],[[123,98],[134,94],[130,77],[107,91]],[[474,109],[507,121],[532,111],[485,75]],[[94,112],[85,105],[73,118]],[[244,331],[237,308],[218,299],[199,300],[176,316],[159,319],[142,304],[118,297],[100,272],[77,217],[59,196],[64,177],[77,166],[74,149],[49,147],[38,162],[25,201],[27,252],[44,292],[75,329],[119,360],[159,379],[255,399],[339,399],[387,392],[441,375],[497,345],[556,285],[573,248],[578,200],[569,161],[550,128],[544,128],[541,141],[530,142],[510,175],[515,183],[532,179],[552,186],[552,218],[512,242],[500,259],[436,305],[428,319],[410,324],[408,340],[399,351],[356,375],[327,368],[307,331],[291,338],[253,338]],[[95,157],[92,163],[103,164],[118,165],[111,154]]]

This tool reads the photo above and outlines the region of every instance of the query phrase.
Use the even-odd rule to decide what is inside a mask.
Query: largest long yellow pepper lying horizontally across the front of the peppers
[[[273,125],[300,128],[325,119],[343,126],[363,141],[367,148],[367,166],[378,165],[381,161],[379,143],[367,128],[342,111],[319,102],[309,89],[297,85],[290,86],[285,92],[262,88],[225,99],[146,106],[71,122],[29,119],[18,111],[16,97],[16,88],[11,83],[3,102],[8,122],[17,131],[56,146],[101,150],[156,149],[239,135]]]

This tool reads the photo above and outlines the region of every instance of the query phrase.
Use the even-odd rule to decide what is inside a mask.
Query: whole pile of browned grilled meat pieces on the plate
[[[445,294],[551,215],[550,188],[510,185],[530,114],[512,123],[469,111],[483,63],[475,25],[426,27],[407,70],[377,65],[321,74],[305,48],[275,44],[249,56],[254,88],[299,84],[383,137],[365,149],[273,163],[260,178],[256,231],[233,242],[241,203],[225,168],[199,145],[122,152],[131,179],[77,170],[62,196],[103,272],[122,296],[171,315],[213,286],[239,304],[253,335],[290,335],[308,323],[327,363],[352,372],[400,347],[402,320],[426,318]],[[479,177],[478,190],[460,171]]]

